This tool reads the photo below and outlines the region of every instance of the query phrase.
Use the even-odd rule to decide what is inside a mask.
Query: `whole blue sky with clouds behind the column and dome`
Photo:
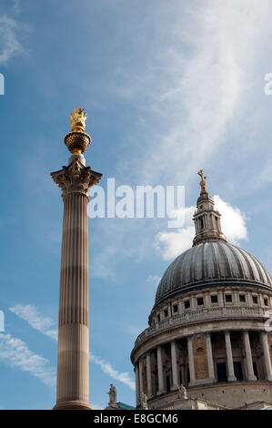
[[[90,403],[135,403],[130,352],[191,245],[203,168],[227,238],[272,271],[268,0],[0,0],[0,408],[55,404],[68,115],[85,107],[101,185],[186,186],[186,224],[91,219]]]

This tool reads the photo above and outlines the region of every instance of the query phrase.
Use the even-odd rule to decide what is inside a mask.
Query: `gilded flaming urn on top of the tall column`
[[[86,111],[77,107],[70,115],[71,132],[65,135],[65,145],[73,155],[83,155],[92,138],[85,132]]]

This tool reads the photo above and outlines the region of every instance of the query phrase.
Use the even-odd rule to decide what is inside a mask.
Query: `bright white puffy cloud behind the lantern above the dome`
[[[247,239],[246,217],[237,207],[221,199],[218,195],[214,197],[216,209],[222,215],[221,227],[229,242],[237,243],[240,239]],[[159,232],[155,238],[157,254],[165,260],[174,259],[182,252],[192,247],[195,237],[195,226],[192,220],[195,207],[186,208],[186,221],[184,228],[175,232]]]

